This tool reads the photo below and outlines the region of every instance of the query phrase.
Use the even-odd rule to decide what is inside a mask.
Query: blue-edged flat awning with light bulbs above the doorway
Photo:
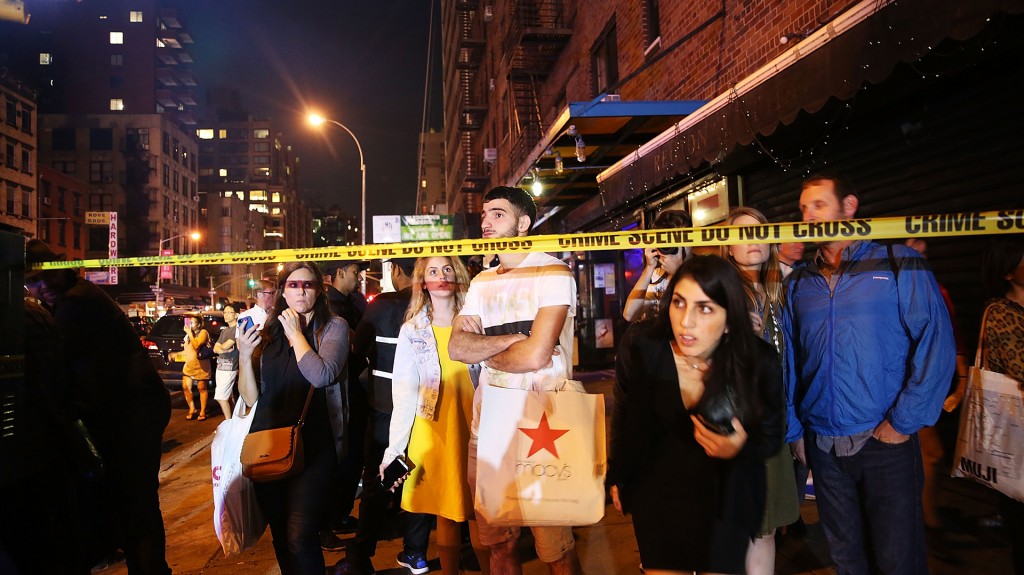
[[[539,175],[544,193],[537,204],[541,218],[594,197],[597,174],[705,105],[705,100],[621,101],[607,96],[569,103],[547,130],[507,185],[529,186]],[[583,138],[586,161],[577,160],[574,126]],[[563,169],[556,170],[560,157]]]

